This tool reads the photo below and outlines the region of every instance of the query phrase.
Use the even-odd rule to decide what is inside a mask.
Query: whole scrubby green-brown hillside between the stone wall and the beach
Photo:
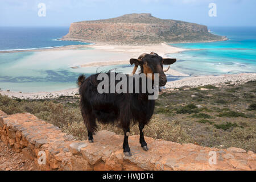
[[[20,100],[0,95],[0,110],[27,112],[59,126],[77,139],[87,138],[79,96],[47,100]],[[156,101],[155,114],[144,129],[147,137],[202,146],[240,147],[256,152],[256,81],[218,88],[207,85],[166,91]],[[122,129],[99,124],[98,130],[123,134]],[[131,134],[139,134],[138,126]]]

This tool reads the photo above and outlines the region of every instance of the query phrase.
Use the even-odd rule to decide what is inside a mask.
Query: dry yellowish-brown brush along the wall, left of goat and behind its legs
[[[72,134],[76,139],[85,140],[87,138],[87,130],[82,121],[79,107],[74,108],[66,105],[70,104],[64,105],[54,103],[50,100],[20,101],[0,95],[0,110],[5,111],[7,114],[31,113],[40,119],[60,127],[65,133]],[[110,124],[103,125],[102,123],[98,123],[98,130],[109,130],[117,134],[123,134],[122,129]],[[130,133],[133,135],[139,134],[138,125],[132,126]],[[154,115],[150,124],[145,127],[144,133],[146,137],[171,140],[180,143],[192,142],[192,139],[179,123],[160,119],[158,115]]]

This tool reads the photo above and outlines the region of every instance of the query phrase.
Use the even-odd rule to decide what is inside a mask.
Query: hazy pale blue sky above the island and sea
[[[42,11],[40,3],[46,5]],[[216,11],[209,4],[216,5]],[[207,26],[256,26],[255,0],[0,0],[1,26],[69,26],[82,20],[151,13]],[[40,12],[39,12],[40,11]],[[209,16],[209,11],[216,16]],[[46,12],[46,16],[42,15]]]

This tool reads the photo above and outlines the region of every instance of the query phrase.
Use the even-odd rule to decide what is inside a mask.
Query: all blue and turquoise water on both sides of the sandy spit
[[[227,36],[228,41],[212,43],[185,43],[171,46],[189,51],[168,55],[177,58],[172,69],[190,76],[222,75],[256,72],[256,28],[210,27],[214,34]],[[20,33],[19,33],[20,32]],[[81,42],[57,41],[68,33],[64,28],[1,28],[0,50],[59,47]],[[86,61],[119,60],[121,53],[100,52],[88,48],[76,50],[0,53],[0,89],[16,92],[50,92],[76,87],[80,73],[91,75],[117,68],[130,73],[131,65],[114,65],[72,69]],[[192,50],[191,50],[192,49]],[[153,50],[152,50],[153,51]],[[128,58],[127,58],[128,59]],[[184,77],[169,76],[168,81]]]

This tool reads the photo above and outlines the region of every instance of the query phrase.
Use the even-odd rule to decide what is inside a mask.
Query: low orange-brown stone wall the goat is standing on
[[[145,139],[150,150],[143,151],[138,135],[129,137],[133,156],[126,157],[122,152],[123,135],[99,131],[94,143],[77,141],[29,113],[7,115],[0,111],[0,138],[42,170],[256,170],[256,154],[252,151],[234,147],[220,150],[148,137]]]

